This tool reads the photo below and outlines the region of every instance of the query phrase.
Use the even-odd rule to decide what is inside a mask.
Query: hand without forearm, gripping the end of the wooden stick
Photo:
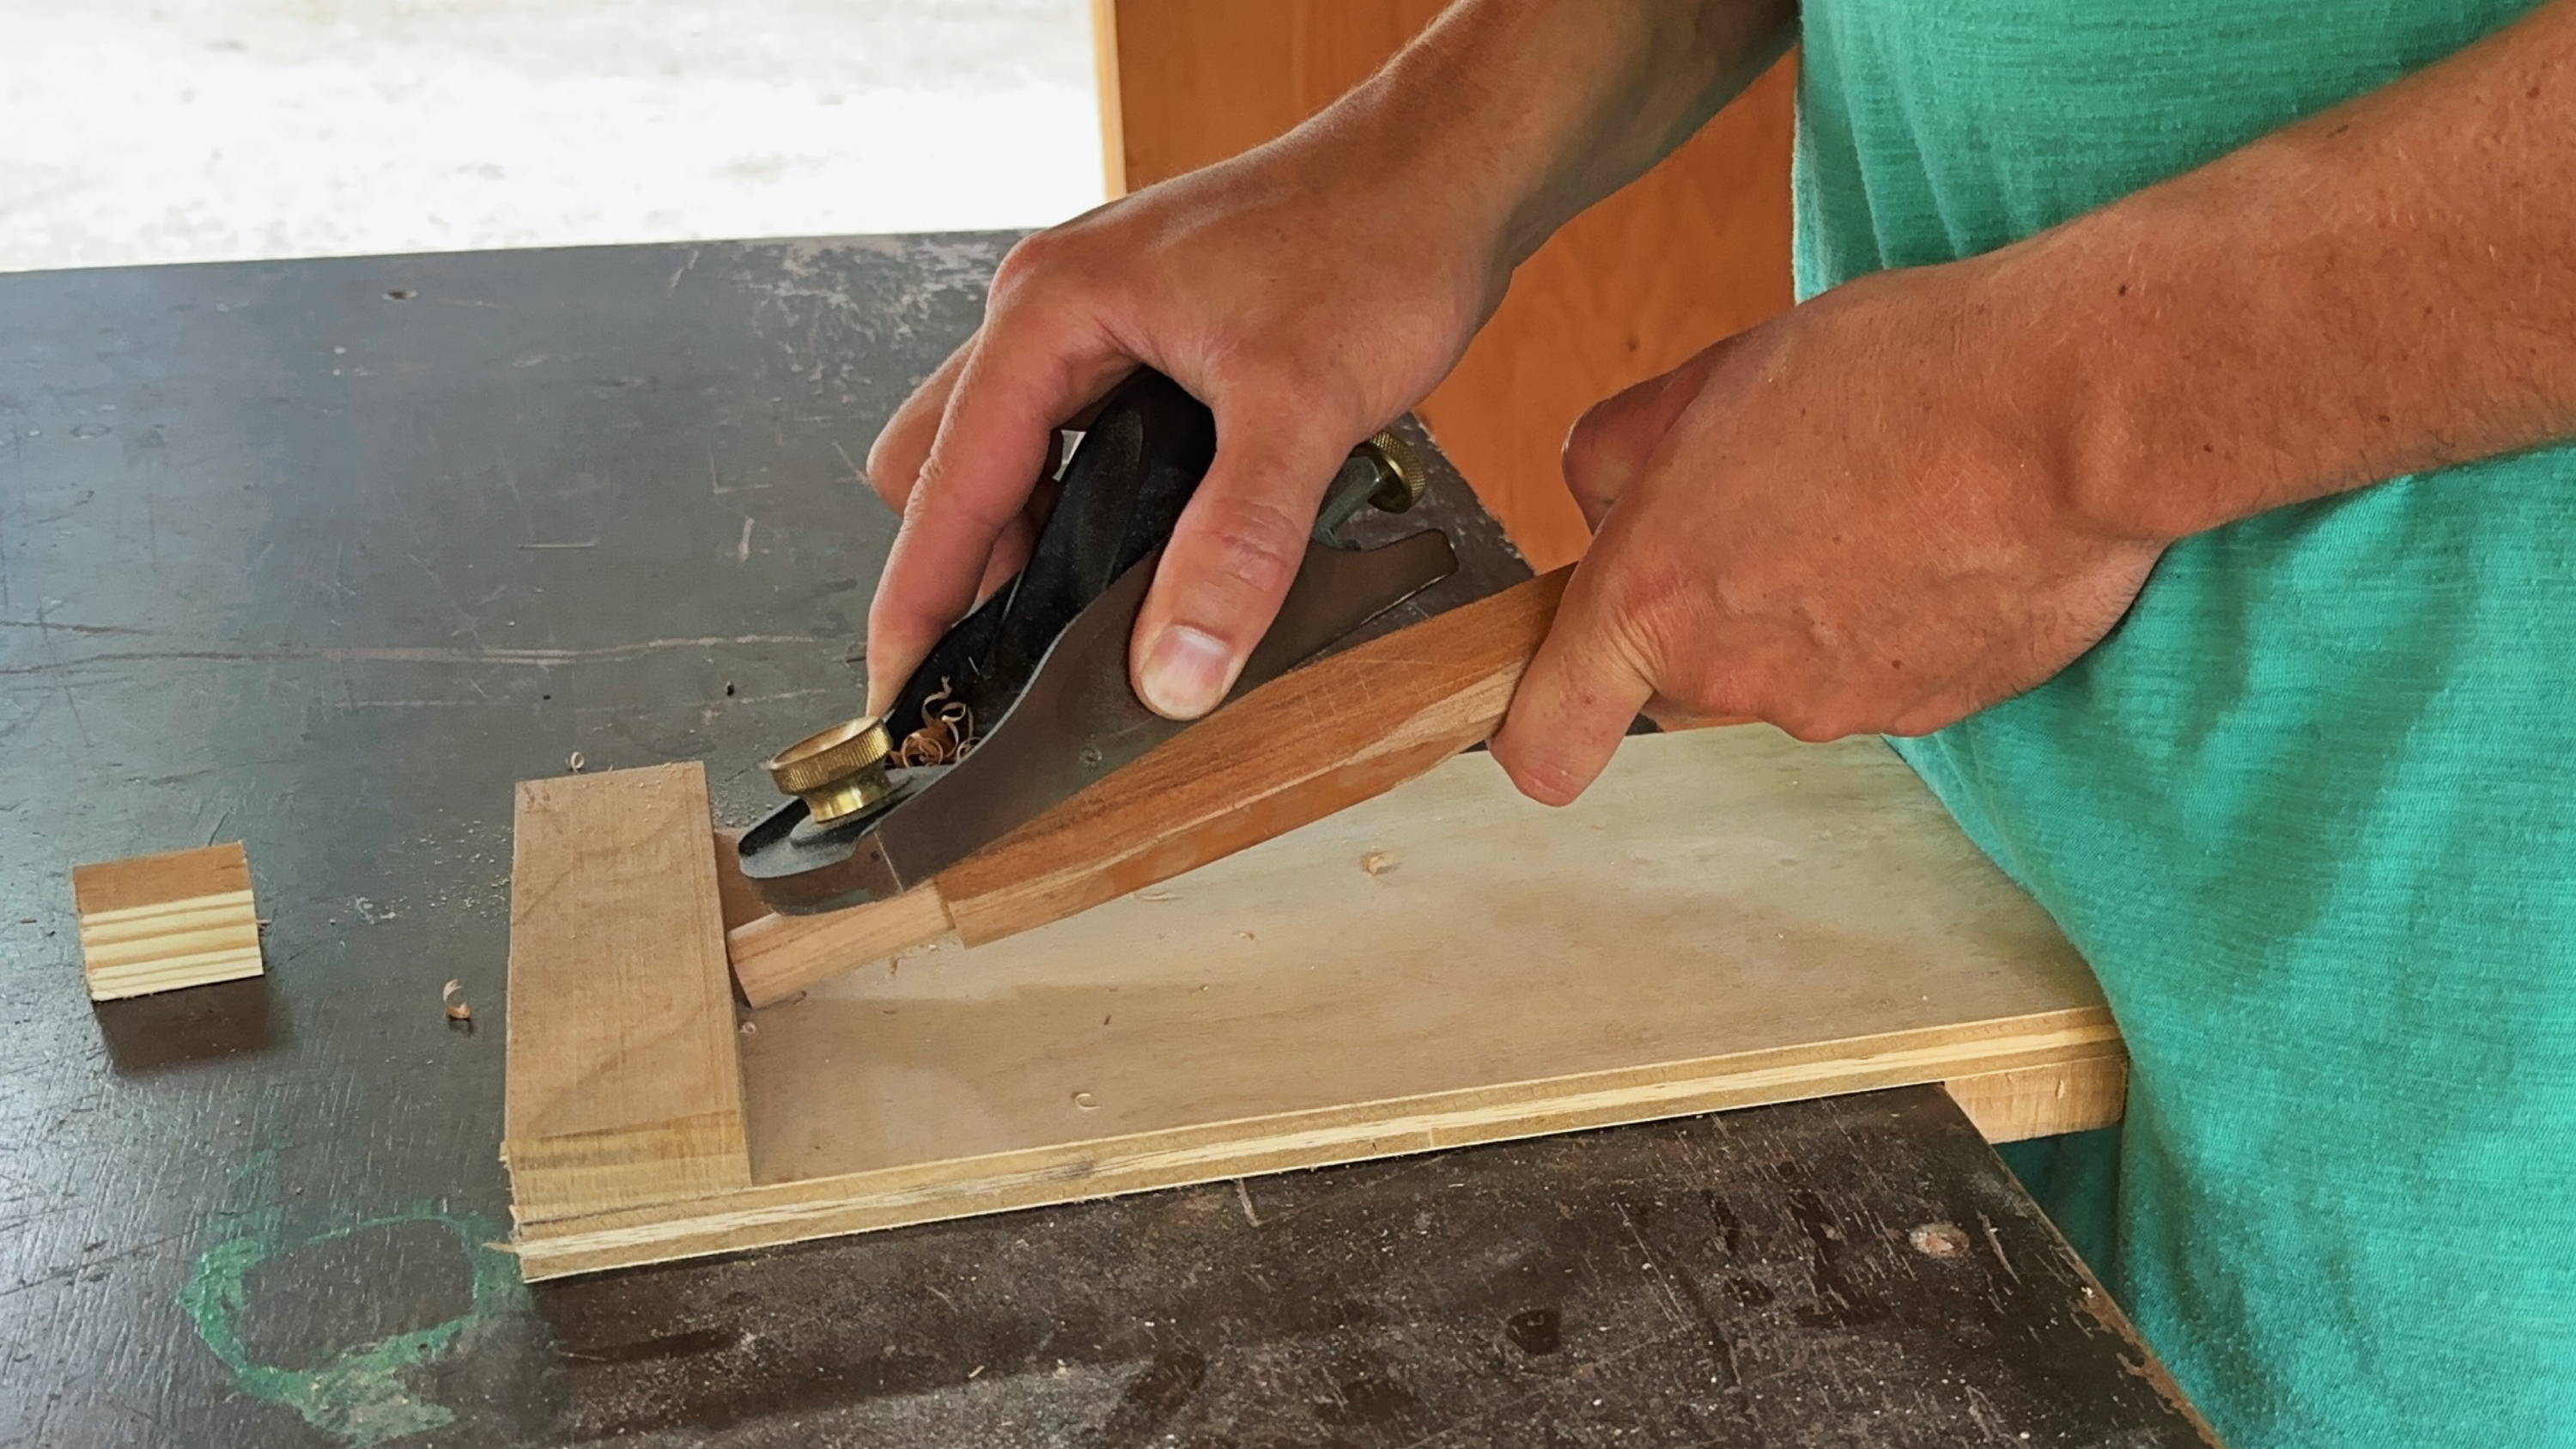
[[[1494,737],[1525,794],[1582,794],[1638,712],[1922,735],[2110,632],[2164,544],[2076,508],[1986,273],[1857,281],[1577,423],[1592,552]]]

